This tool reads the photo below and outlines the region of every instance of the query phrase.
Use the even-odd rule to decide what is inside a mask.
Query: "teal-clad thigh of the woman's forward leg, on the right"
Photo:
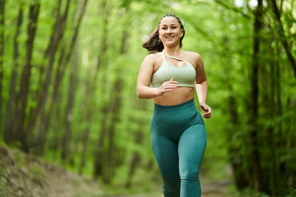
[[[200,169],[207,144],[204,124],[197,124],[184,131],[179,140],[180,174],[188,174]]]

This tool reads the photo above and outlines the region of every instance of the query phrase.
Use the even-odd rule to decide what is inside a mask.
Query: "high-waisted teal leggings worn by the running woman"
[[[173,106],[154,103],[151,145],[165,197],[200,197],[199,169],[207,133],[194,101]]]

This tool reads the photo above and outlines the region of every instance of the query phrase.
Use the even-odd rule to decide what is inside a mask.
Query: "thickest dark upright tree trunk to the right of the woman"
[[[260,164],[260,153],[258,147],[258,70],[259,70],[259,33],[262,28],[262,0],[258,0],[258,6],[255,11],[255,23],[254,23],[254,43],[253,43],[253,64],[252,64],[252,103],[251,103],[251,114],[249,116],[249,124],[252,126],[251,129],[251,160],[253,163],[253,173],[254,173],[254,189],[257,191],[263,190],[262,182],[262,168]]]

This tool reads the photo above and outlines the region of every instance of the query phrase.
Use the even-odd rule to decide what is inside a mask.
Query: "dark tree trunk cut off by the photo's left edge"
[[[0,134],[2,133],[2,89],[3,89],[3,56],[4,56],[4,11],[5,0],[0,0]]]

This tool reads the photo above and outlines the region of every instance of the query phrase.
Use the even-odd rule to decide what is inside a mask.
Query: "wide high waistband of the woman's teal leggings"
[[[188,114],[196,113],[194,99],[177,105],[159,105],[154,103],[153,116],[160,118],[179,118]]]

